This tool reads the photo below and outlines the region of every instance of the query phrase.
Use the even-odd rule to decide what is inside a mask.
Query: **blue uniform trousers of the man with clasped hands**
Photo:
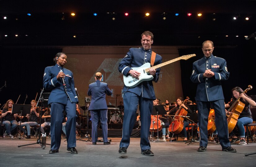
[[[206,147],[208,144],[208,117],[210,105],[213,106],[215,112],[215,123],[218,131],[218,138],[222,148],[230,147],[228,139],[227,118],[225,113],[224,100],[216,101],[196,101],[198,109],[198,122],[200,128],[200,146]]]

